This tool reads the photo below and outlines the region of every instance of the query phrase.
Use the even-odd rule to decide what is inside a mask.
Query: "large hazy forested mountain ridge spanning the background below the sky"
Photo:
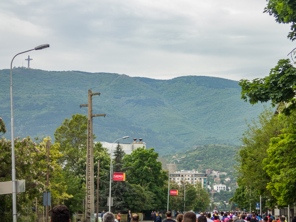
[[[0,116],[10,138],[10,70],[0,70]],[[143,138],[160,154],[195,145],[240,144],[244,119],[263,111],[240,99],[238,81],[206,76],[171,80],[115,73],[55,72],[13,69],[15,136],[52,136],[65,118],[87,114],[88,89],[93,96],[96,141],[122,136]]]

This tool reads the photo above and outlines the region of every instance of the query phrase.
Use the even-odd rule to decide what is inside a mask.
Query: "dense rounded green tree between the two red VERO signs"
[[[167,188],[164,189],[165,181],[168,181],[167,173],[162,170],[162,165],[157,162],[158,153],[153,148],[139,147],[123,160],[128,167],[128,183],[147,185],[147,189],[155,194],[154,208],[165,207],[167,203]]]

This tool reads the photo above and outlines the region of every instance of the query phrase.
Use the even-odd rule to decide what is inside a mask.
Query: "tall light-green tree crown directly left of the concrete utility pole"
[[[72,119],[66,118],[56,129],[54,142],[60,144],[63,154],[62,163],[65,163],[65,168],[75,172],[79,159],[86,155],[87,117],[78,113],[71,117]]]

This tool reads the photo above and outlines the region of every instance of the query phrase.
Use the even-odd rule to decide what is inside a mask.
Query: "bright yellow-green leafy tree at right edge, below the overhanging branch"
[[[282,134],[271,139],[264,159],[266,170],[271,181],[267,189],[276,198],[277,204],[284,206],[296,202],[296,112],[289,117],[279,115],[284,120]]]

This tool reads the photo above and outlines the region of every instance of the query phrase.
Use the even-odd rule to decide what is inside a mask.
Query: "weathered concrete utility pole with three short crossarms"
[[[87,152],[86,152],[86,222],[91,222],[91,213],[94,213],[94,133],[92,118],[96,116],[106,116],[106,114],[92,114],[92,96],[100,93],[91,93],[89,89],[88,104],[80,105],[80,108],[87,106]]]

